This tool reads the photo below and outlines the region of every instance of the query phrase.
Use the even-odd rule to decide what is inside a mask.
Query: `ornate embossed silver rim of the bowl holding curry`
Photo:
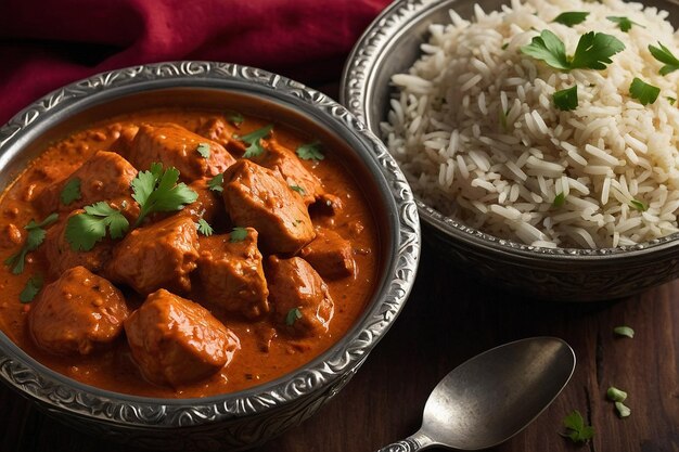
[[[228,63],[183,61],[112,70],[59,89],[0,128],[0,169],[60,116],[127,94],[166,88],[246,92],[292,106],[340,132],[356,148],[387,199],[393,244],[372,302],[358,323],[304,367],[247,390],[201,399],[155,399],[102,390],[38,363],[0,332],[0,377],[50,411],[130,427],[171,428],[213,424],[281,408],[330,385],[342,384],[394,322],[414,282],[420,256],[418,210],[405,177],[382,142],[326,95],[266,70]],[[1,171],[0,171],[1,172]],[[386,247],[386,246],[385,246]]]

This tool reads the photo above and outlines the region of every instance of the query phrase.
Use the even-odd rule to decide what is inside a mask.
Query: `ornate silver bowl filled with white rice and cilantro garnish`
[[[341,102],[459,268],[545,299],[629,296],[679,275],[678,21],[677,0],[397,0]]]

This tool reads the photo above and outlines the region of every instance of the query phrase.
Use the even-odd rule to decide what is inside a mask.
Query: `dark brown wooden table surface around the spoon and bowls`
[[[623,324],[633,327],[633,339],[613,334]],[[425,245],[408,304],[356,377],[312,418],[257,452],[374,451],[418,429],[430,391],[454,366],[536,335],[571,344],[575,374],[538,419],[492,451],[679,451],[679,281],[627,299],[554,304],[474,281]],[[628,391],[631,416],[616,416],[605,400],[610,385]],[[595,429],[588,444],[559,435],[573,410]],[[64,427],[4,386],[0,419],[2,452],[136,451]]]

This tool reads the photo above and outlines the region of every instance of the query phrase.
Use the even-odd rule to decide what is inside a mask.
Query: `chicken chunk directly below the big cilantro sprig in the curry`
[[[175,215],[127,234],[114,247],[106,275],[142,295],[161,287],[188,292],[191,289],[189,273],[195,269],[198,257],[197,247],[193,219]]]

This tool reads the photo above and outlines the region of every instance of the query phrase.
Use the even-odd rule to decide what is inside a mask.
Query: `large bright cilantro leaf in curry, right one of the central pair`
[[[141,208],[134,227],[141,224],[143,219],[156,211],[175,211],[184,208],[198,198],[197,193],[189,189],[185,183],[177,183],[179,171],[168,168],[163,171],[163,165],[151,164],[148,171],[140,171],[131,185],[132,197]]]

